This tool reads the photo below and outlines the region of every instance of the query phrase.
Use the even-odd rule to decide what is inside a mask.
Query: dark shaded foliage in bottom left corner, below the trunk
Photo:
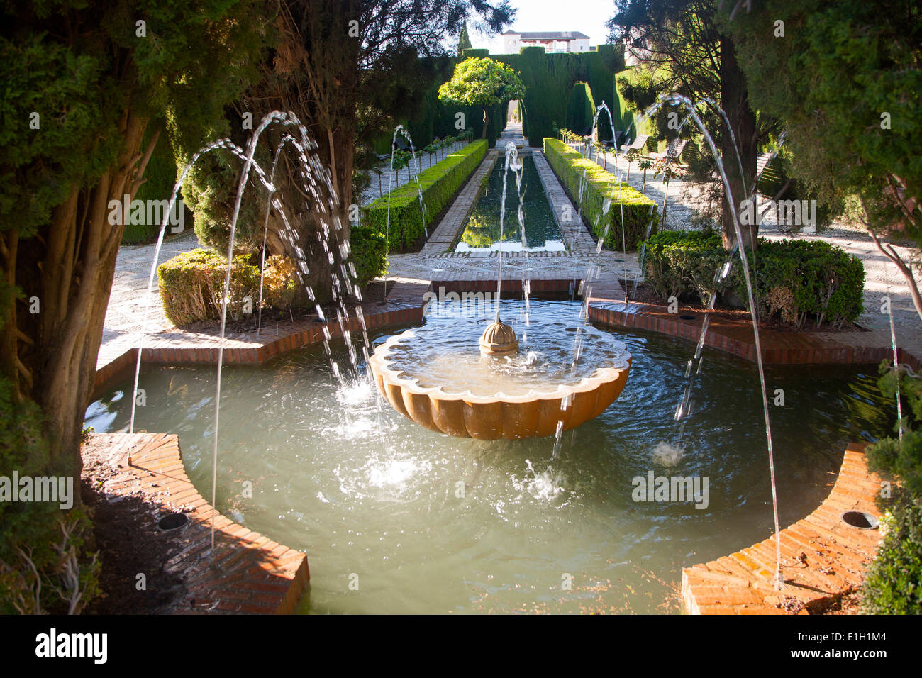
[[[15,402],[9,382],[0,379],[0,475],[9,478],[16,470],[20,478],[76,476],[73,491],[77,494],[79,473],[68,458],[51,461],[42,420],[37,404]],[[60,520],[71,530],[69,540],[62,538]],[[84,595],[76,612],[95,599],[100,594],[100,567],[90,558],[90,533],[89,517],[80,507],[65,514],[59,504],[49,502],[0,502],[0,614],[68,612],[55,589],[67,592],[61,574],[68,554],[55,551],[55,545],[64,544],[65,551],[72,546],[80,563],[77,578]]]

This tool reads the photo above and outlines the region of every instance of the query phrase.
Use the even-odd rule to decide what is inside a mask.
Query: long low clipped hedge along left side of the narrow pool
[[[464,149],[420,172],[420,189],[425,208],[425,225],[429,226],[479,165],[487,153],[488,142],[479,139]],[[420,193],[416,180],[399,186],[390,194],[390,247],[405,249],[424,234]],[[362,209],[361,225],[375,232],[388,232],[387,196],[379,197]]]

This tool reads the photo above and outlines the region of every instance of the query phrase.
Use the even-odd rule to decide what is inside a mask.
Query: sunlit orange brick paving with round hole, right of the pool
[[[880,518],[880,479],[870,474],[863,445],[845,450],[842,469],[810,516],[781,530],[784,589],[774,588],[774,535],[721,558],[682,570],[682,601],[691,614],[808,614],[856,589],[881,542],[879,529],[853,528],[845,511]]]

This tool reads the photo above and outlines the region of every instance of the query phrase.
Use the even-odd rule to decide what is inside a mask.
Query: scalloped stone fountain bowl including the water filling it
[[[609,333],[576,318],[542,314],[529,324],[519,315],[510,322],[518,354],[491,356],[478,341],[488,324],[455,317],[387,339],[370,363],[378,388],[420,426],[479,440],[553,435],[558,422],[566,431],[621,395],[631,354]]]

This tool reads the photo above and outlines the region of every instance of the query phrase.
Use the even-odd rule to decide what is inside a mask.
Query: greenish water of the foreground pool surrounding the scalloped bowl
[[[504,317],[521,311],[503,303]],[[456,315],[449,303],[427,323]],[[578,315],[579,303],[531,303],[532,324],[579,324]],[[340,387],[323,349],[226,366],[218,508],[307,553],[304,613],[678,612],[682,566],[771,533],[758,375],[751,363],[705,350],[676,441],[672,414],[693,345],[613,334],[632,354],[627,386],[596,420],[563,434],[550,469],[552,436],[480,442],[433,433],[379,399],[367,374]],[[215,375],[214,367],[145,366],[147,405],[137,409],[138,429],[179,434],[206,496]],[[886,434],[895,415],[873,367],[768,368],[766,377],[785,390],[785,406],[771,412],[784,526],[828,494],[845,444]],[[124,430],[130,392],[127,380],[113,387],[89,407],[87,423]],[[634,479],[651,471],[706,477],[707,506],[634,501]],[[253,482],[252,499],[242,497],[243,481]]]

